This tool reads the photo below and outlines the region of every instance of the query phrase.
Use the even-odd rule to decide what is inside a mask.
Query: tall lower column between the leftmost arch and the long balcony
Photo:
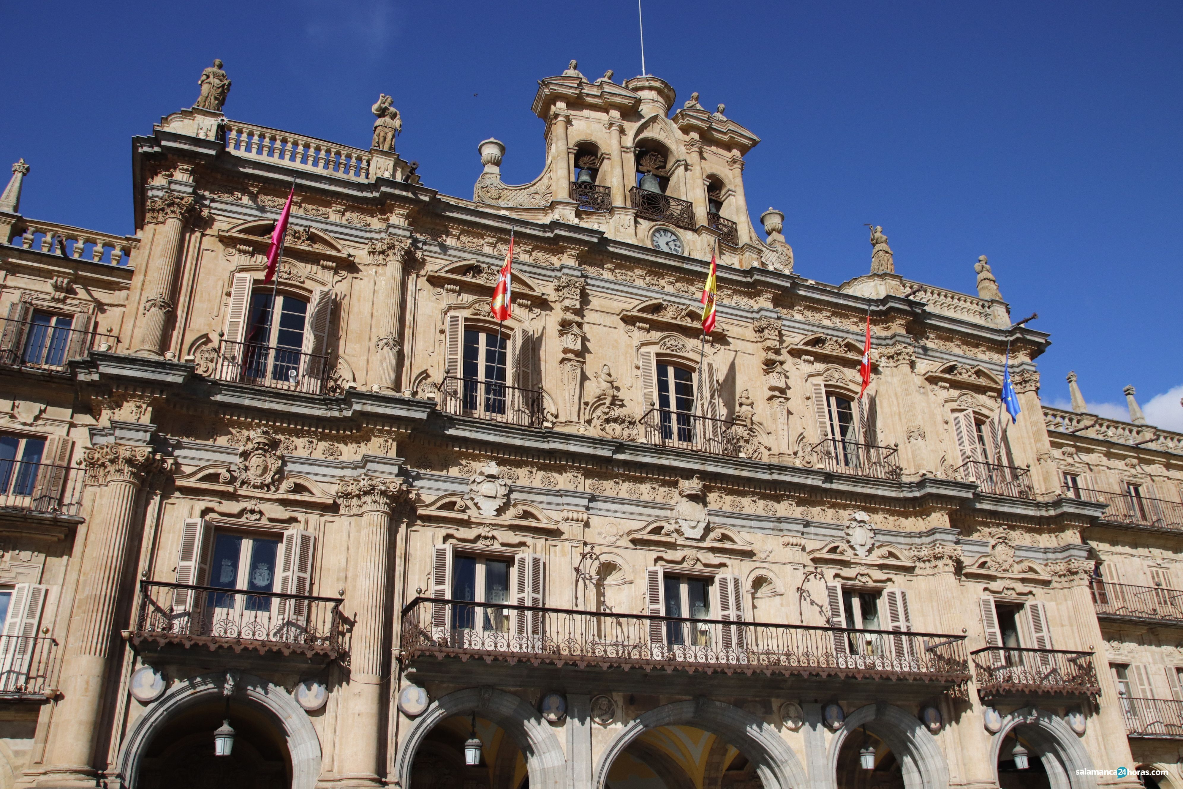
[[[343,688],[337,722],[340,785],[381,785],[384,771],[379,764],[384,733],[382,713],[387,706],[382,685],[390,675],[386,652],[387,557],[393,531],[390,516],[407,498],[407,487],[397,479],[369,476],[343,479],[337,485],[342,515],[355,516],[356,541],[345,583],[344,610],[354,619],[350,642],[349,681]]]

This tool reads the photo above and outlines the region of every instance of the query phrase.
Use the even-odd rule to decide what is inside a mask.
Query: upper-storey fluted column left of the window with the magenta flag
[[[156,228],[141,291],[143,318],[136,325],[135,353],[159,356],[166,345],[168,316],[173,312],[179,258],[183,248],[185,222],[193,213],[190,195],[166,192],[149,198],[146,221]]]

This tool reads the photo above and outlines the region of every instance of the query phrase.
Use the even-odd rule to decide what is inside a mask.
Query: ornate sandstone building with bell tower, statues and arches
[[[0,198],[0,787],[1183,789],[1183,435],[1041,406],[984,258],[799,274],[657,77],[543,79],[471,200],[389,97],[367,150],[228,90],[132,235]]]

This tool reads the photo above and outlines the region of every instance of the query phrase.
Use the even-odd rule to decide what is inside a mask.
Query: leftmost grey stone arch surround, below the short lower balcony
[[[119,751],[117,764],[123,785],[135,789],[141,758],[160,726],[195,704],[222,698],[225,683],[224,672],[193,677],[177,683],[148,705],[148,711],[131,726]],[[274,717],[287,741],[292,759],[292,789],[312,789],[321,776],[321,739],[304,709],[286,690],[253,674],[239,677],[231,699],[250,701]]]

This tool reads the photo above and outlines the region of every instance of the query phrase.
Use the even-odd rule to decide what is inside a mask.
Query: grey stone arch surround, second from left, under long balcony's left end
[[[567,757],[550,725],[537,710],[518,697],[491,687],[468,687],[432,701],[399,744],[399,757],[394,765],[399,784],[411,785],[411,765],[415,759],[415,751],[437,724],[445,718],[472,712],[504,729],[522,749],[531,789],[558,789],[563,785]]]

